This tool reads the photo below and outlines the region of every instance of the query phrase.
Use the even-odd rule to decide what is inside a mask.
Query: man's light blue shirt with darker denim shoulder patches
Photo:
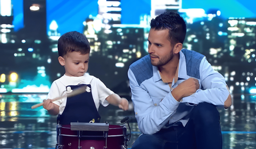
[[[230,94],[224,77],[212,69],[204,55],[187,49],[179,54],[178,81],[173,80],[171,88],[162,81],[149,55],[134,62],[128,70],[135,117],[143,134],[154,134],[178,121],[185,126],[194,104],[208,102],[224,107]],[[191,77],[199,81],[200,88],[178,102],[171,91]]]

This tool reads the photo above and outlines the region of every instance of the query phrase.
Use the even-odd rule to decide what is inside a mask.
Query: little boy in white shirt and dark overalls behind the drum
[[[123,110],[128,109],[127,99],[120,98],[98,78],[85,74],[90,55],[90,45],[85,35],[76,31],[63,34],[58,40],[58,53],[58,60],[64,66],[65,74],[52,83],[43,107],[51,115],[59,114],[59,124],[100,122],[99,104],[107,106],[110,103]],[[65,95],[82,84],[90,87],[91,91],[52,102],[51,99]]]

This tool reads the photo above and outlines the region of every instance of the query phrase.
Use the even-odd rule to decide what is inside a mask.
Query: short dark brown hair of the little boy
[[[67,32],[60,36],[58,40],[58,53],[63,57],[68,52],[90,53],[91,47],[84,34],[77,31]]]

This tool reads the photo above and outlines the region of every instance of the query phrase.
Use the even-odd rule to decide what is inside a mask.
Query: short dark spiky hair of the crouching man
[[[186,23],[178,13],[164,12],[151,20],[150,27],[155,30],[169,29],[169,38],[172,44],[183,44],[185,40]]]

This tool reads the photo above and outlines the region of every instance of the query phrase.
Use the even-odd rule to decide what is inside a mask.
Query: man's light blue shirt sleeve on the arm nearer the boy
[[[163,99],[154,99],[162,100],[156,106],[153,97],[138,84],[130,69],[128,70],[128,77],[138,127],[143,134],[154,134],[169,121],[169,117],[177,109],[180,102],[176,101],[169,92]]]

